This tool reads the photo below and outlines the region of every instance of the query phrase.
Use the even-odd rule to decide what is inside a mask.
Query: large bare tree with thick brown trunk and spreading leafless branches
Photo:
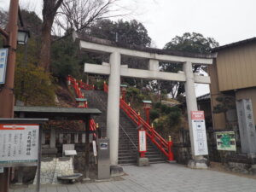
[[[83,31],[96,20],[111,17],[111,9],[119,0],[43,0],[42,48],[39,66],[49,71],[51,32],[54,20],[61,29],[70,34]],[[117,15],[114,15],[117,16]],[[54,29],[55,30],[55,29]],[[56,31],[60,32],[60,29]]]

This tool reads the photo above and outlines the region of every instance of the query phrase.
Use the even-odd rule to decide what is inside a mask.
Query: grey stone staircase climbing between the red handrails
[[[108,94],[102,90],[86,90],[84,92],[89,108],[98,108],[102,111],[101,115],[94,116],[96,123],[102,129],[102,137],[106,137],[107,131],[107,102]],[[166,161],[160,150],[153,143],[147,140],[146,157],[150,163],[160,163]],[[119,164],[132,165],[137,163],[137,125],[120,109],[119,113]]]

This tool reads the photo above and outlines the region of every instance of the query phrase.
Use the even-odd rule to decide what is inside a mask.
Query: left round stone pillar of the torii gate
[[[119,93],[120,61],[118,52],[110,55],[110,74],[108,79],[107,137],[110,144],[110,163],[118,165],[119,151]]]

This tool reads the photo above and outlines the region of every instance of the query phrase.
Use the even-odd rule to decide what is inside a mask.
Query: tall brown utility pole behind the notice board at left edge
[[[0,90],[0,118],[14,118],[14,81],[18,33],[18,10],[19,0],[10,0],[9,21],[6,32],[1,29],[1,33],[7,43],[5,46],[9,48],[9,55],[6,67],[5,84],[3,84],[3,87]],[[4,172],[0,173],[0,192],[9,191],[10,170],[10,168],[4,168]]]

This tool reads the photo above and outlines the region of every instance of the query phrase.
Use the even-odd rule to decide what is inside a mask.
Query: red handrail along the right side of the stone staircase
[[[108,93],[108,84],[104,82],[104,91]],[[133,120],[137,125],[143,125],[146,130],[147,137],[160,149],[160,151],[166,155],[168,160],[174,160],[172,154],[172,140],[169,137],[169,141],[160,136],[160,134],[154,130],[154,127],[148,125],[148,123],[142,119],[123,99],[120,99],[120,108]]]

